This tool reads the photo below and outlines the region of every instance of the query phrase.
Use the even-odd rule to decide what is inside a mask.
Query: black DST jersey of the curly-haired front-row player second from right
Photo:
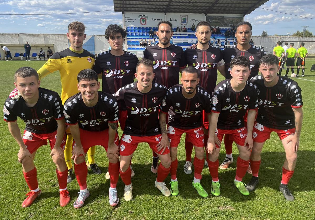
[[[232,130],[244,127],[244,115],[247,110],[258,107],[258,89],[253,83],[246,81],[245,88],[235,92],[231,79],[221,81],[215,86],[211,111],[220,113],[218,129]]]

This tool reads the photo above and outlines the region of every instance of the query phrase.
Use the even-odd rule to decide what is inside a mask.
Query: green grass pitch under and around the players
[[[105,179],[108,159],[103,147],[96,148],[95,160],[99,164],[102,174],[94,175],[89,170],[87,179],[90,197],[80,209],[73,208],[77,198],[79,186],[74,180],[68,184],[71,201],[66,207],[59,205],[59,188],[55,173],[55,165],[49,155],[50,147],[42,146],[35,157],[37,177],[42,195],[28,208],[22,208],[22,201],[29,191],[23,178],[22,166],[17,160],[19,150],[13,137],[10,135],[7,123],[0,122],[0,219],[315,219],[315,72],[309,69],[315,63],[315,58],[307,60],[305,77],[296,78],[302,88],[303,97],[303,128],[298,151],[297,165],[289,189],[295,196],[295,201],[285,201],[278,190],[282,175],[282,164],[285,158],[284,149],[278,136],[272,133],[271,139],[266,141],[261,156],[260,184],[254,192],[245,197],[233,185],[236,171],[236,162],[224,171],[219,170],[221,195],[215,197],[210,193],[211,176],[208,168],[203,169],[201,184],[209,192],[209,197],[201,198],[192,188],[193,173],[186,175],[183,172],[185,164],[184,136],[178,149],[179,195],[165,197],[154,187],[156,174],[151,173],[152,151],[147,144],[140,144],[135,151],[132,163],[135,177],[134,199],[123,200],[123,182],[117,184],[120,203],[112,208],[108,203],[109,180]],[[14,73],[22,66],[31,66],[39,69],[44,61],[0,61],[0,79],[2,92],[0,103],[4,103],[10,91],[14,88]],[[296,72],[296,69],[295,69]],[[283,71],[285,73],[285,69]],[[301,74],[301,72],[300,72]],[[219,74],[218,82],[223,80]],[[41,86],[61,92],[60,75],[55,72],[42,80]],[[21,132],[24,123],[18,119]],[[119,130],[121,135],[121,130]],[[194,157],[194,153],[192,155]],[[225,157],[222,145],[219,157],[220,163]],[[233,158],[236,161],[238,150],[233,146]],[[243,182],[251,178],[248,173]],[[166,183],[170,181],[170,176]],[[169,187],[169,184],[167,184]]]

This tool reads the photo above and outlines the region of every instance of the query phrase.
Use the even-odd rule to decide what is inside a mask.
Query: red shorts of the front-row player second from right
[[[222,141],[223,135],[228,135],[229,140],[233,140],[238,145],[244,146],[244,142],[247,137],[247,128],[243,127],[232,130],[216,129],[215,135],[217,135],[220,141]],[[219,148],[217,145],[216,147]]]

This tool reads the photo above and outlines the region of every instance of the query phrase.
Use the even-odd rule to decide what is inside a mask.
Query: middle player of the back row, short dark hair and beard
[[[184,51],[182,47],[169,42],[173,36],[172,23],[160,21],[157,28],[159,42],[156,45],[146,47],[143,58],[153,61],[155,73],[153,81],[170,88],[179,83],[180,69],[186,67]],[[153,173],[157,173],[157,162],[158,157],[153,151],[151,167]]]

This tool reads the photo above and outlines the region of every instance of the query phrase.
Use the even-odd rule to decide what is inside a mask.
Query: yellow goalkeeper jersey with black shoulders
[[[54,53],[37,73],[39,79],[59,70],[61,80],[62,103],[78,93],[77,74],[83,69],[93,69],[95,56],[82,49],[75,51],[71,47]]]

